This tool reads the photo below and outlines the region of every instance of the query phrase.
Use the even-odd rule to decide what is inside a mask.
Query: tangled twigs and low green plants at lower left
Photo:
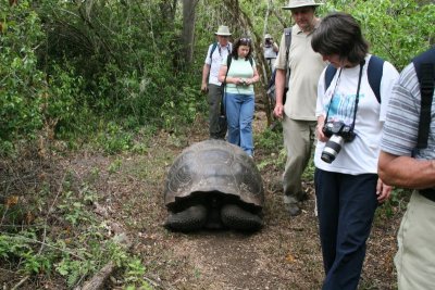
[[[0,163],[0,268],[13,274],[0,275],[1,283],[12,289],[32,280],[41,288],[74,289],[113,265],[120,286],[151,289],[126,234],[95,210],[103,192],[52,156],[28,160],[29,154]]]

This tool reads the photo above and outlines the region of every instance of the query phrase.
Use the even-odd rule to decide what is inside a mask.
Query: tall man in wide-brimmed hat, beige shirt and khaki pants
[[[313,0],[290,0],[284,10],[290,10],[295,25],[291,27],[291,45],[287,52],[285,34],[281,39],[275,62],[276,104],[274,114],[283,121],[284,146],[287,161],[283,174],[284,204],[290,216],[301,213],[300,202],[307,199],[301,176],[311,157],[315,133],[315,103],[319,77],[326,66],[322,55],[311,48],[312,33],[320,24],[315,17]],[[287,67],[290,71],[286,81]],[[288,86],[286,102],[284,89]]]

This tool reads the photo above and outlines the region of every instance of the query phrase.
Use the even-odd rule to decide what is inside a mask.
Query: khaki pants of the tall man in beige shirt
[[[284,203],[299,202],[302,191],[301,176],[311,157],[316,121],[296,121],[284,114],[284,146],[287,162],[283,174]]]

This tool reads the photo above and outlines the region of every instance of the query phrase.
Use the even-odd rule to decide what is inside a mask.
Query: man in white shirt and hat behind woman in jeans
[[[217,80],[219,70],[223,60],[232,51],[228,26],[221,25],[215,33],[217,41],[209,46],[202,67],[201,91],[208,92],[209,134],[211,139],[225,139],[226,126],[220,126],[222,84]]]

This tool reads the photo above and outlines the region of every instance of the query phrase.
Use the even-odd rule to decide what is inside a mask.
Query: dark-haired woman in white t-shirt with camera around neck
[[[315,109],[322,289],[355,290],[375,210],[391,191],[377,176],[377,159],[389,94],[399,74],[389,62],[373,61],[378,58],[369,53],[361,27],[350,14],[326,15],[311,45],[330,62],[319,79]],[[332,79],[326,77],[331,71]]]

